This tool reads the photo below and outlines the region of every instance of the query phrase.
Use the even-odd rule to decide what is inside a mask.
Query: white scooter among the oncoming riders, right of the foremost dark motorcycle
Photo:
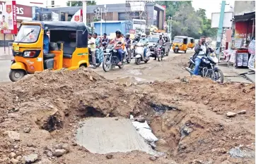
[[[141,43],[137,43],[136,44],[136,48],[135,48],[135,63],[137,65],[139,65],[141,63],[141,61],[144,61],[144,63],[148,63],[149,59],[150,59],[150,51],[149,49],[147,49],[146,51],[146,57],[144,57],[144,46]]]

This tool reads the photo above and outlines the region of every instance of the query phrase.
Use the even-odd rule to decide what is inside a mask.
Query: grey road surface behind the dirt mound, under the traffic
[[[193,53],[192,50],[187,53],[173,53],[170,51],[169,56],[165,56],[163,61],[153,61],[153,58],[148,63],[136,65],[134,60],[131,63],[124,65],[124,68],[115,68],[110,72],[105,72],[103,68],[97,68],[95,72],[103,75],[107,79],[115,80],[122,77],[136,77],[141,81],[152,80],[172,80],[178,76],[189,75],[185,70],[189,56]],[[8,78],[10,71],[11,56],[0,56],[0,82],[11,82]]]

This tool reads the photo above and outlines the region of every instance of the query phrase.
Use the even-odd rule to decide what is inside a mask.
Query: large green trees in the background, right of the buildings
[[[172,35],[199,38],[201,35],[215,37],[216,29],[211,29],[211,20],[206,18],[206,10],[194,11],[192,1],[158,1],[166,6],[165,19],[172,17]]]

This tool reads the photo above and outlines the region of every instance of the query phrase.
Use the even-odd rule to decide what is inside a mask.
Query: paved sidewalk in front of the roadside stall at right
[[[220,63],[219,69],[222,70],[226,82],[255,83],[255,73],[248,74],[251,71],[248,68],[235,69],[233,66],[228,68],[227,65]]]

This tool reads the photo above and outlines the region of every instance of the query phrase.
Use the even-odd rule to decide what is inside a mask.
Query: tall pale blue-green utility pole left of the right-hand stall
[[[226,1],[222,1],[221,14],[219,16],[219,28],[217,32],[217,42],[216,42],[216,49],[217,49],[216,55],[219,57],[219,59],[220,59],[220,51],[221,51],[221,38],[223,34],[223,20],[224,20],[225,6],[226,6]]]

